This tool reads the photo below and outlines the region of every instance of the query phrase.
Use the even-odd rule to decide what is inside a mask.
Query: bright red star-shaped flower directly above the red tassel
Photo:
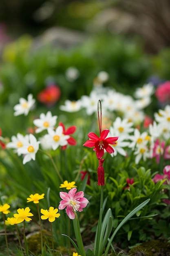
[[[116,144],[114,141],[117,141],[118,137],[107,137],[109,133],[108,129],[105,129],[101,132],[100,137],[98,137],[94,132],[89,132],[88,137],[90,138],[86,141],[83,146],[92,148],[95,147],[93,150],[96,151],[96,155],[98,159],[101,159],[104,155],[104,149],[107,153],[113,153],[114,149],[109,144]]]

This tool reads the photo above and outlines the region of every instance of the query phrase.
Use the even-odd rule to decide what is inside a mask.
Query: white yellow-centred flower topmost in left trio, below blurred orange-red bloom
[[[44,113],[40,114],[40,119],[35,119],[33,124],[38,128],[35,130],[36,133],[42,132],[48,128],[54,128],[56,124],[57,116],[52,116],[51,111],[48,111],[46,115]]]

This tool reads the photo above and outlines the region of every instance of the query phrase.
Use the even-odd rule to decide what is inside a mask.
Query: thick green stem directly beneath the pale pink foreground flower
[[[82,235],[80,232],[79,219],[78,219],[77,213],[76,212],[74,213],[75,213],[75,219],[73,219],[73,226],[74,226],[75,238],[77,240],[78,249],[81,256],[86,256],[86,252],[84,250],[84,245],[82,241]]]

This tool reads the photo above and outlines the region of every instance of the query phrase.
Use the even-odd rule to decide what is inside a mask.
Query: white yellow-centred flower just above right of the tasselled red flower
[[[110,127],[110,132],[111,130],[112,131],[114,130],[117,136],[128,137],[130,133],[134,131],[134,128],[132,128],[132,126],[133,126],[133,123],[128,122],[128,119],[121,120],[120,117],[117,117],[113,122],[113,127]]]

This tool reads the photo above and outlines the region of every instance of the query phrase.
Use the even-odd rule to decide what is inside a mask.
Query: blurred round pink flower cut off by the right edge
[[[168,103],[170,102],[170,81],[160,84],[157,87],[155,95],[159,102]]]

